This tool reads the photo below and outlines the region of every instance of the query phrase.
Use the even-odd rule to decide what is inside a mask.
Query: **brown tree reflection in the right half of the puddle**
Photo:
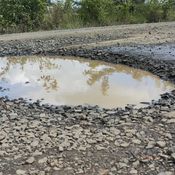
[[[84,71],[84,74],[89,77],[87,81],[88,85],[92,86],[93,84],[101,80],[101,89],[102,89],[103,95],[107,95],[107,91],[110,88],[109,76],[112,75],[113,73],[128,74],[128,75],[131,75],[132,78],[137,81],[141,81],[143,78],[147,76],[151,76],[154,79],[157,88],[160,88],[162,85],[161,81],[156,76],[153,76],[149,72],[141,71],[139,69],[131,68],[120,64],[117,64],[117,65],[110,64],[110,63],[104,63],[104,64],[106,65],[106,67],[103,68],[102,70],[99,70],[97,68],[102,65],[101,62],[99,61],[89,62],[88,64],[89,70]],[[168,83],[165,83],[163,85],[164,85],[163,87],[164,90],[167,87],[169,87]]]

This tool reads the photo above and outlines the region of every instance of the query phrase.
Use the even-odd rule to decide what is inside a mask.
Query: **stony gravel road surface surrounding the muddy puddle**
[[[175,83],[175,23],[0,36],[0,56],[73,55]],[[149,107],[102,109],[0,99],[0,175],[174,175],[175,92]]]

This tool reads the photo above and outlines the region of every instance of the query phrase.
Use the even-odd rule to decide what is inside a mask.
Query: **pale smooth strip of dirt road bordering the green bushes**
[[[108,41],[106,43],[104,41],[102,42],[105,45],[115,43],[130,43],[130,42],[137,44],[148,44],[148,43],[157,44],[164,42],[174,42],[175,22],[119,25],[119,26],[108,26],[108,27],[82,28],[73,30],[54,30],[54,31],[9,34],[9,35],[0,35],[0,41],[65,38],[65,37],[80,37],[80,36],[87,39],[88,37],[102,36],[104,38],[104,41]],[[96,45],[100,45],[100,43],[101,42],[98,42],[96,43]]]

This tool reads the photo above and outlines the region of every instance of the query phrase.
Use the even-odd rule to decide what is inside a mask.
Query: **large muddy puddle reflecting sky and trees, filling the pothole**
[[[50,104],[118,107],[159,98],[173,84],[149,72],[79,58],[10,57],[0,59],[0,92],[10,98]]]

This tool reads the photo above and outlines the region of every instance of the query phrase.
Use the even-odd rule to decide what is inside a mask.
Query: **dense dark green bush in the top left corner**
[[[1,28],[16,26],[21,31],[38,28],[45,9],[46,0],[0,0]]]

